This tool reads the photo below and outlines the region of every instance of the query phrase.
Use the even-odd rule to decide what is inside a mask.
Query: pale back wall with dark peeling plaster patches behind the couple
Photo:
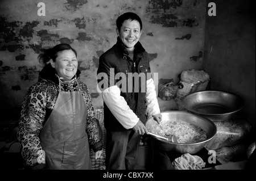
[[[46,16],[37,15],[39,2],[45,3]],[[181,71],[203,64],[205,9],[205,0],[0,1],[1,114],[19,112],[42,69],[39,50],[59,43],[77,50],[81,79],[94,107],[102,108],[96,89],[98,59],[115,44],[115,20],[127,11],[141,16],[141,43],[150,53],[152,71],[159,79],[179,82]]]

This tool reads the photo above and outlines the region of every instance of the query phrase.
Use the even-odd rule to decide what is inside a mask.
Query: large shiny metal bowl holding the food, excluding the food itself
[[[154,144],[156,146],[158,146],[158,148],[160,148],[166,152],[173,151],[174,153],[180,153],[180,154],[184,154],[184,153],[195,154],[195,153],[199,152],[201,149],[203,149],[207,145],[207,142],[209,140],[211,140],[217,132],[216,125],[212,121],[210,121],[207,118],[200,117],[200,116],[194,115],[189,112],[164,111],[161,114],[162,114],[162,121],[182,120],[189,124],[200,127],[207,133],[207,140],[204,140],[201,142],[196,142],[196,143],[191,143],[191,144],[168,142],[168,141],[161,140],[158,137],[151,136],[152,141],[154,141]],[[157,124],[157,123],[151,117],[150,119],[147,120],[147,122],[145,124],[146,128],[150,129],[152,124]]]

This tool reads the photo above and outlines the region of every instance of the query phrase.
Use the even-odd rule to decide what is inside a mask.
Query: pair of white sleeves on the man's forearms
[[[127,105],[125,99],[120,95],[121,91],[118,86],[111,86],[102,92],[102,98],[113,113],[115,118],[126,129],[133,128],[139,121],[139,118]],[[147,80],[146,100],[148,117],[160,113],[158,100],[155,92],[153,79]]]

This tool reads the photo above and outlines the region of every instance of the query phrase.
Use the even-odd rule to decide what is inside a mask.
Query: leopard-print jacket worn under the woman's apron
[[[77,81],[79,81],[81,94],[88,109],[85,130],[88,134],[89,145],[94,151],[98,151],[102,149],[102,144],[94,117],[92,100],[85,83],[81,82],[79,78]],[[77,91],[77,81],[75,79],[71,82],[60,81],[61,91]],[[59,83],[56,80],[39,77],[38,82],[28,89],[24,97],[19,120],[18,140],[25,166],[38,164],[38,153],[42,151],[39,133],[55,106],[58,94]]]

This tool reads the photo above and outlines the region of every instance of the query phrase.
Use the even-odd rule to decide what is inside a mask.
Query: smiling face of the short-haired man
[[[134,49],[134,45],[137,44],[142,33],[139,22],[137,20],[131,21],[129,19],[123,22],[120,32],[118,29],[116,31],[120,40],[128,50]]]

